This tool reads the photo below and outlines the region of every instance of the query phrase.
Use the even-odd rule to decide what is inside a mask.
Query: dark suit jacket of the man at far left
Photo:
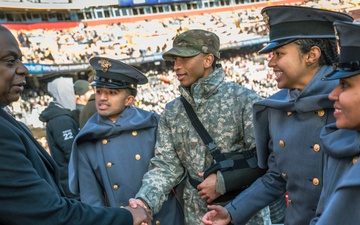
[[[0,109],[0,224],[133,224],[125,209],[67,199],[59,177],[30,130]]]

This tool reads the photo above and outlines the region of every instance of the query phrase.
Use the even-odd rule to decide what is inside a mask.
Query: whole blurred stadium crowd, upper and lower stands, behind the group
[[[344,11],[342,1],[323,1],[334,10]],[[319,7],[318,1],[309,1]],[[324,3],[323,3],[324,4]],[[222,48],[256,37],[267,36],[260,8],[219,12],[201,16],[147,20],[135,23],[117,23],[87,26],[81,23],[71,29],[12,30],[18,37],[24,54],[24,63],[75,64],[89,63],[95,55],[116,59],[137,58],[168,50],[173,37],[188,29],[207,29],[219,35]],[[226,79],[253,89],[262,97],[277,92],[276,81],[267,66],[268,54],[257,55],[256,50],[242,51],[240,55],[221,57],[219,63]],[[136,106],[161,113],[165,104],[178,95],[178,82],[169,67],[160,70],[155,65],[145,75],[149,83],[140,87]],[[28,97],[28,96],[27,96]],[[52,98],[46,93],[36,93],[29,99],[13,104],[13,112],[30,127],[44,129],[38,117]]]

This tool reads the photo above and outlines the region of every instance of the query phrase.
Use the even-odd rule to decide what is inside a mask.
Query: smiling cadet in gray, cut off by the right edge
[[[335,22],[340,60],[324,80],[339,80],[329,94],[336,123],[321,131],[324,185],[311,224],[360,223],[360,24]]]

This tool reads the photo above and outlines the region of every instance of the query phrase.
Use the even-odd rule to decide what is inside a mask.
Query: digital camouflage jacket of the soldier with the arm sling
[[[255,147],[252,105],[261,97],[236,83],[225,82],[224,77],[224,72],[218,68],[208,78],[193,84],[191,90],[180,86],[180,93],[193,106],[223,152],[249,150]],[[201,181],[198,173],[205,171],[213,160],[179,97],[166,105],[158,132],[155,157],[136,195],[145,200],[154,213],[160,210],[167,194],[183,179],[186,171]],[[206,202],[188,182],[183,197],[186,224],[201,224]]]

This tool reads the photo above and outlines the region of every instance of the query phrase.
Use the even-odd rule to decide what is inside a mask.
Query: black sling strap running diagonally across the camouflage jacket
[[[213,156],[216,162],[223,161],[225,159],[224,155],[221,154],[220,148],[216,145],[215,141],[211,138],[209,133],[206,131],[204,125],[201,123],[199,118],[197,117],[194,109],[190,105],[190,103],[181,95],[180,100],[184,105],[186,113],[189,116],[191,124],[194,126],[195,130],[200,135],[206,147],[209,149],[211,155]]]

